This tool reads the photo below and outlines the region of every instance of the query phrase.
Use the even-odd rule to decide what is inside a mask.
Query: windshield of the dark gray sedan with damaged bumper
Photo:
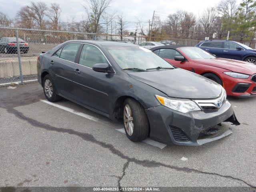
[[[116,63],[122,68],[138,68],[146,70],[148,68],[171,68],[174,67],[152,51],[135,46],[106,46],[106,50],[114,58]],[[135,70],[134,70],[135,71]]]

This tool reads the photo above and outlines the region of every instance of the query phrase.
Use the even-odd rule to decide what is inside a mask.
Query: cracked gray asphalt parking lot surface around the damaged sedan
[[[228,99],[233,134],[162,146],[131,142],[122,122],[68,100],[45,102],[38,83],[2,87],[0,186],[256,187],[256,98]]]

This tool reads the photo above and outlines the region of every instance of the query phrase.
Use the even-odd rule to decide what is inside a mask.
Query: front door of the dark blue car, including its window
[[[241,50],[237,50],[237,48]],[[244,48],[233,42],[224,42],[223,58],[242,60],[243,55]]]

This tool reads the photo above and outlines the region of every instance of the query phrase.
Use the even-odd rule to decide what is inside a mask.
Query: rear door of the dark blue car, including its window
[[[207,41],[200,45],[200,48],[216,55],[217,57],[223,56],[223,42],[222,41]]]

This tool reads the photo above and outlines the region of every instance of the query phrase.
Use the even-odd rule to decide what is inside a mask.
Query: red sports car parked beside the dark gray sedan
[[[256,96],[255,64],[217,58],[198,47],[158,46],[150,50],[178,68],[195,72],[217,82],[225,88],[227,95]]]

